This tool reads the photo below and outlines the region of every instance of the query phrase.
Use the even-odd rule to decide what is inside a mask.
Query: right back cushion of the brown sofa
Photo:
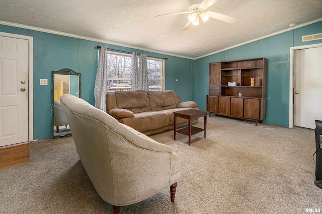
[[[148,91],[147,92],[152,111],[176,108],[176,100],[171,91]]]

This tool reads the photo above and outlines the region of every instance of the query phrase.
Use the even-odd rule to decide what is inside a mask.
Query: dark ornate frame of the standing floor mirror
[[[71,133],[59,134],[59,135],[54,136],[55,74],[78,76],[78,97],[79,98],[81,98],[81,88],[82,88],[81,87],[81,73],[74,72],[73,70],[68,69],[68,68],[63,68],[63,69],[60,69],[59,71],[51,71],[51,130],[50,130],[51,139],[71,136]]]

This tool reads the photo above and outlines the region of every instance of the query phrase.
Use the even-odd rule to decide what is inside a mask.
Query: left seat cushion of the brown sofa
[[[148,111],[136,113],[134,117],[122,118],[119,121],[139,132],[146,132],[168,127],[170,119],[166,112]]]

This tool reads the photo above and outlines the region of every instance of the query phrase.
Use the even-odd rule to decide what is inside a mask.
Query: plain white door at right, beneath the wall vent
[[[322,120],[322,47],[294,51],[294,125]]]

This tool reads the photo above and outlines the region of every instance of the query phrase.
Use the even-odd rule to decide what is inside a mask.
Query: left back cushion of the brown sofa
[[[133,113],[150,111],[149,98],[146,91],[116,91],[117,108],[125,108]]]

